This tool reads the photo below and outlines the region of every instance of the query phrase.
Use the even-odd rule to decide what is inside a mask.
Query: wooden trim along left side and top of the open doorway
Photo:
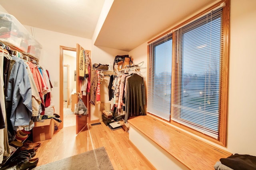
[[[60,45],[60,129],[63,128],[64,115],[63,115],[63,50],[76,51],[76,48],[65,47]]]

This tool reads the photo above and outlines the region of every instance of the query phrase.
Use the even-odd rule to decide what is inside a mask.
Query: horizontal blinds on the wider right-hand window
[[[192,129],[218,139],[222,8],[178,29],[172,117]]]

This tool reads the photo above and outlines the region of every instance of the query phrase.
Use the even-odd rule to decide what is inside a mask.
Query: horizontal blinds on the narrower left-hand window
[[[148,45],[147,112],[170,121],[172,34]]]

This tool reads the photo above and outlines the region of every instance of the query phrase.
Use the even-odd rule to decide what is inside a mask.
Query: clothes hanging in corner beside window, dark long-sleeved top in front
[[[114,107],[117,113],[114,116],[125,114],[124,122],[131,116],[145,115],[146,104],[144,78],[136,73],[121,74],[110,81],[113,97],[109,91],[109,99],[114,98]]]

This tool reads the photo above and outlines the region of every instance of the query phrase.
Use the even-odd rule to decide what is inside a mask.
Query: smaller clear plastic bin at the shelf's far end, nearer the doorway
[[[36,39],[30,35],[28,41],[28,54],[40,59],[41,50],[42,45],[40,45],[40,43],[38,43],[38,41],[36,41]]]

